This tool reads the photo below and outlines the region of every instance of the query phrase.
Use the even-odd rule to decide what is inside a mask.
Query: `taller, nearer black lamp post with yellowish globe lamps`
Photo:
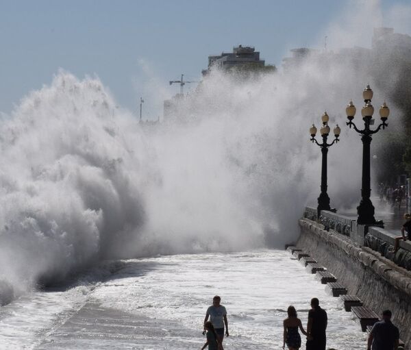
[[[357,207],[358,219],[357,223],[360,225],[383,225],[382,221],[375,221],[374,218],[374,206],[371,202],[371,184],[370,184],[370,145],[371,145],[371,135],[379,132],[379,129],[385,129],[388,124],[386,123],[390,110],[384,102],[379,108],[379,116],[382,123],[380,123],[376,129],[372,130],[371,125],[374,124],[373,113],[374,108],[371,105],[371,99],[373,98],[373,90],[367,85],[362,92],[362,97],[364,98],[364,107],[361,110],[362,120],[364,121],[364,129],[360,130],[353,123],[354,115],[356,114],[356,107],[353,105],[353,101],[350,101],[345,109],[347,113],[348,122],[350,129],[351,127],[362,135],[362,187],[361,187],[361,201],[360,205]]]

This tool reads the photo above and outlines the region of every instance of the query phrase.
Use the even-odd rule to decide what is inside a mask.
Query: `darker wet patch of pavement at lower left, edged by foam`
[[[86,303],[62,326],[53,329],[35,349],[155,350],[150,341],[158,337],[162,338],[162,349],[172,349],[176,338],[182,345],[181,349],[189,349],[193,344],[199,348],[203,344],[197,344],[192,332],[170,320],[129,314],[114,308],[104,308],[98,303]]]

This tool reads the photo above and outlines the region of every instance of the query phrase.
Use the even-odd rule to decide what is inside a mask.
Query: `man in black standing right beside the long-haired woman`
[[[320,308],[319,299],[311,299],[311,310],[308,312],[307,323],[307,350],[325,350],[327,338],[325,329],[327,329],[327,312]]]

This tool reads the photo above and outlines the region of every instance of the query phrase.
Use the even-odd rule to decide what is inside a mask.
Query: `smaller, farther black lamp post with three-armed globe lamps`
[[[327,195],[327,153],[328,147],[334,145],[334,142],[336,143],[339,141],[338,137],[340,136],[341,132],[341,129],[337,124],[336,127],[334,127],[334,140],[331,143],[327,143],[327,138],[329,134],[329,116],[327,112],[324,112],[323,116],[321,116],[321,121],[323,121],[323,126],[320,129],[320,134],[323,138],[323,143],[319,143],[315,138],[317,132],[315,125],[313,124],[312,127],[310,127],[310,141],[312,143],[315,142],[317,145],[319,145],[319,147],[321,147],[321,153],[323,153],[323,160],[321,162],[321,193],[320,197],[318,198],[319,205],[317,206],[318,218],[320,217],[321,210],[331,210],[331,207],[329,206],[329,197]]]

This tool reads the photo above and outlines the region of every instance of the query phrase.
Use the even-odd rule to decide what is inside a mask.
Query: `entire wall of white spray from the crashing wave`
[[[329,149],[332,205],[356,205],[361,143],[345,105],[361,105],[369,77],[328,56],[247,82],[213,72],[151,127],[98,78],[60,71],[1,123],[3,279],[25,289],[107,258],[283,247],[319,195],[308,129],[324,110],[343,129]]]

